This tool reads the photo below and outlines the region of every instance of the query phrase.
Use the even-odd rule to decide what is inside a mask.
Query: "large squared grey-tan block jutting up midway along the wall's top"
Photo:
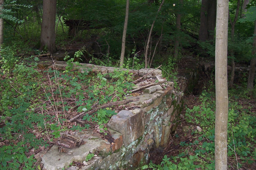
[[[125,146],[139,138],[144,132],[141,114],[133,114],[130,111],[120,111],[117,115],[113,115],[108,126],[123,135]]]

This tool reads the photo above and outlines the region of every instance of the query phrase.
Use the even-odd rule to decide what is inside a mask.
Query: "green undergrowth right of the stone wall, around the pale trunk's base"
[[[159,165],[150,162],[140,169],[214,169],[214,126],[215,126],[215,86],[210,82],[199,96],[197,105],[185,108],[185,120],[192,128],[192,141],[180,142],[183,148],[176,156],[165,155]],[[239,89],[239,90],[238,90]],[[245,94],[246,84],[229,90],[229,116],[227,135],[228,168],[250,167],[256,159],[255,135],[256,115]],[[202,132],[195,130],[199,126]],[[175,135],[178,138],[178,134]]]

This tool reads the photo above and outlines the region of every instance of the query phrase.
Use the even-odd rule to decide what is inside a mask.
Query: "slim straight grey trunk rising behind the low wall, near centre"
[[[128,25],[128,15],[129,15],[129,0],[126,0],[124,31],[123,31],[121,57],[120,57],[120,68],[123,68],[123,64],[124,64],[125,39],[126,39],[126,32],[127,32],[127,25]]]

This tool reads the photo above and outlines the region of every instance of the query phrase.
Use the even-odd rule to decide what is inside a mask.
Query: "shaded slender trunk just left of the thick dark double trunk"
[[[182,8],[182,4],[183,4],[183,0],[180,0],[180,7],[178,8]],[[177,59],[178,58],[178,51],[179,51],[179,45],[180,45],[180,29],[181,29],[181,13],[180,13],[180,9],[177,11],[177,15],[176,15],[176,31],[177,31],[177,35],[175,38],[175,43],[174,43],[174,58]]]

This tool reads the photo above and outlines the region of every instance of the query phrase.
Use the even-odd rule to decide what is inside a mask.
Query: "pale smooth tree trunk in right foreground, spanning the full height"
[[[215,169],[227,169],[227,28],[229,0],[217,0],[215,40]]]

